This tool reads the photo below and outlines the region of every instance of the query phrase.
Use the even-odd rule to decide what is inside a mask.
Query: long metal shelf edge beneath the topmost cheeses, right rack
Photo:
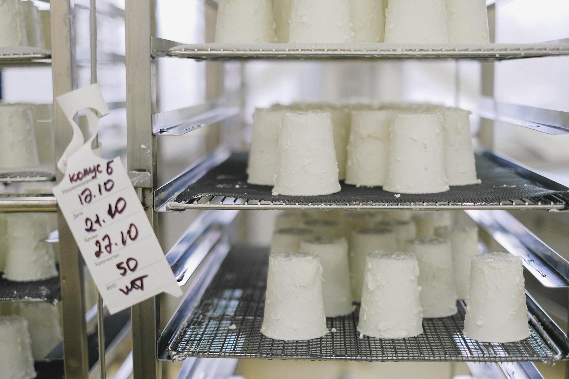
[[[569,55],[567,43],[541,44],[176,44],[152,38],[153,57],[249,59],[474,59],[506,60]]]

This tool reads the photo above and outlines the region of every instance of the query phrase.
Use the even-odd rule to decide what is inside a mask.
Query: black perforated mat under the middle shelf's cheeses
[[[471,203],[473,205],[493,205],[501,202],[517,201],[547,204],[567,203],[563,186],[549,181],[530,180],[522,177],[513,168],[506,167],[491,156],[477,155],[476,168],[482,184],[454,186],[450,191],[438,194],[401,194],[381,188],[357,188],[341,183],[341,191],[325,196],[285,196],[273,195],[270,186],[247,183],[247,153],[233,153],[224,163],[216,166],[194,184],[180,193],[174,202],[191,203],[208,196],[256,199],[258,201],[286,203],[378,203],[397,205],[399,203]],[[535,175],[539,178],[539,176]],[[533,199],[533,201],[531,201]]]

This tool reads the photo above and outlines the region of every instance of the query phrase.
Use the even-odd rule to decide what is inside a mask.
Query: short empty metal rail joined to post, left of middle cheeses
[[[180,136],[204,126],[226,120],[239,113],[223,99],[152,115],[152,134]]]

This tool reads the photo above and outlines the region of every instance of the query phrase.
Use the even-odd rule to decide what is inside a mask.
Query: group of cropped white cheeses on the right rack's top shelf
[[[220,0],[217,43],[489,43],[485,0]]]

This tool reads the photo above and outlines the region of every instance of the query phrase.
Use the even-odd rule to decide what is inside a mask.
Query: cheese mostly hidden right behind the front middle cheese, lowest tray
[[[365,257],[373,251],[396,251],[397,234],[390,229],[368,228],[352,232],[350,240],[350,277],[355,301],[361,300]]]

